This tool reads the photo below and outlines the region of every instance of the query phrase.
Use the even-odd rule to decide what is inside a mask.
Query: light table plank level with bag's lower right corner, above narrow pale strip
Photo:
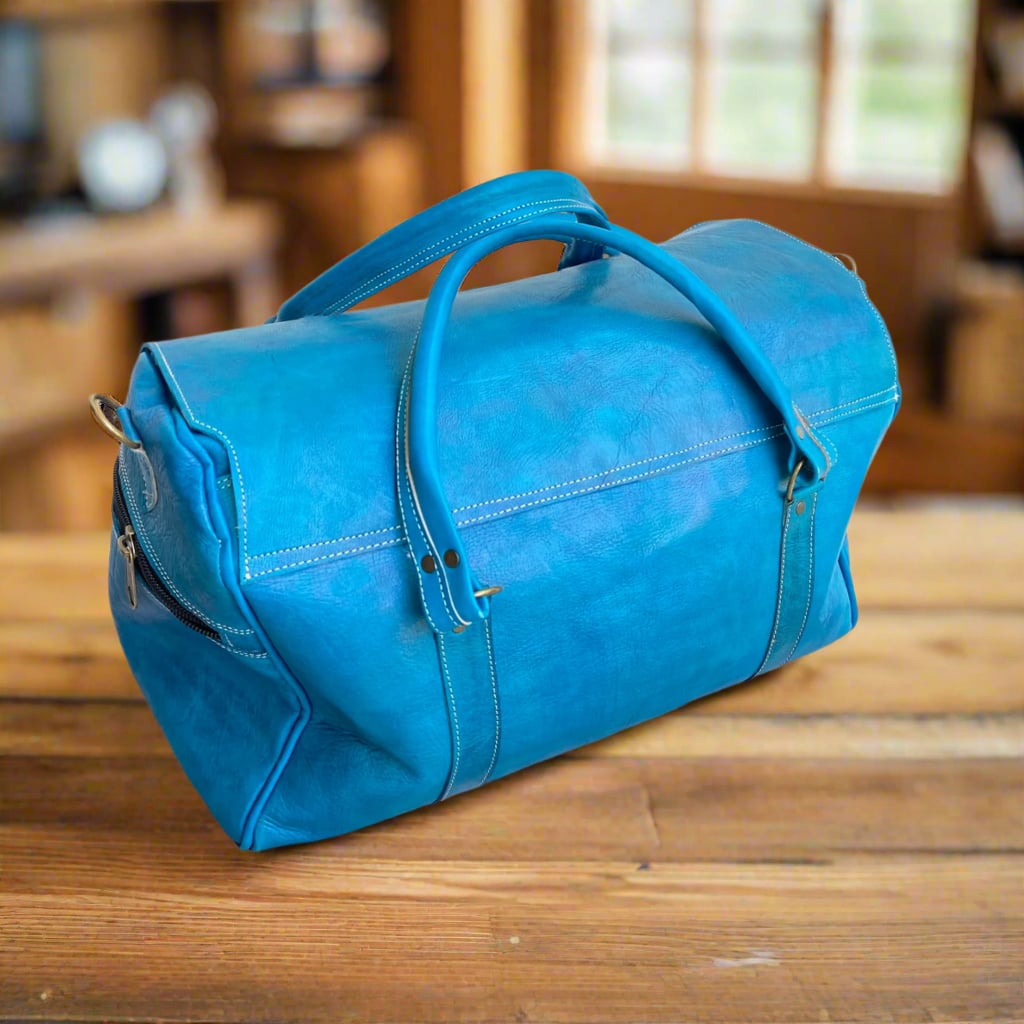
[[[1024,614],[865,611],[838,643],[690,706],[701,714],[1024,711]],[[0,697],[141,699],[109,616],[0,615]]]

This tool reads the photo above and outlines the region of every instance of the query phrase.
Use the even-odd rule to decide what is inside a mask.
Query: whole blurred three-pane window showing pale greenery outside
[[[947,191],[974,0],[585,0],[595,165]]]

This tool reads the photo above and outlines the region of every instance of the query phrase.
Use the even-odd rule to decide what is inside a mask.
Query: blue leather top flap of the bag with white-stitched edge
[[[836,258],[755,221],[701,224],[665,248],[719,293],[826,438],[829,422],[897,402],[888,333]],[[403,303],[146,346],[129,406],[157,375],[189,426],[223,445],[244,579],[400,539],[395,411],[422,312]],[[456,303],[437,430],[463,526],[753,443],[777,444],[784,475],[778,422],[692,305],[627,257]]]

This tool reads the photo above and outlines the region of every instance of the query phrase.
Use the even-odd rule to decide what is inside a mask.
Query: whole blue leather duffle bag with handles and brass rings
[[[557,271],[459,294],[535,239]],[[352,308],[449,254],[425,302]],[[655,245],[568,175],[500,178],[94,396],[121,642],[241,847],[361,828],[847,633],[899,396],[839,258],[749,220]]]

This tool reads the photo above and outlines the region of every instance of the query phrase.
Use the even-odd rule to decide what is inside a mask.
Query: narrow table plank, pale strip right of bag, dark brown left
[[[126,703],[0,702],[0,755],[169,757],[150,710]],[[685,709],[574,752],[612,758],[1024,758],[1024,714],[694,715]]]

